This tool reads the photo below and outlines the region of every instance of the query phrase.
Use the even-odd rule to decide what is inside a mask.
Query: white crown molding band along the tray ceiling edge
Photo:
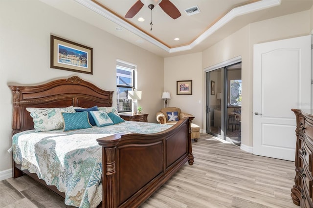
[[[178,46],[170,48],[163,44],[162,42],[157,41],[155,38],[149,36],[148,34],[142,32],[138,28],[134,27],[132,24],[124,21],[123,19],[117,17],[116,15],[112,14],[105,8],[101,7],[97,3],[93,2],[92,0],[75,0],[76,2],[84,5],[85,7],[89,8],[90,10],[96,12],[97,14],[105,17],[106,19],[118,24],[119,26],[127,29],[128,31],[134,33],[135,35],[139,36],[140,38],[158,46],[159,48],[165,50],[168,53],[176,53],[180,51],[191,50],[196,45],[203,42],[205,39],[210,37],[214,32],[219,30],[223,27],[227,22],[233,20],[235,17],[245,15],[248,13],[260,11],[263,9],[267,9],[273,6],[278,6],[281,4],[281,0],[259,0],[254,3],[246,4],[240,7],[236,7],[230,10],[223,18],[219,21],[214,23],[209,29],[207,29],[204,33],[202,33],[195,41],[191,42],[189,45]]]

